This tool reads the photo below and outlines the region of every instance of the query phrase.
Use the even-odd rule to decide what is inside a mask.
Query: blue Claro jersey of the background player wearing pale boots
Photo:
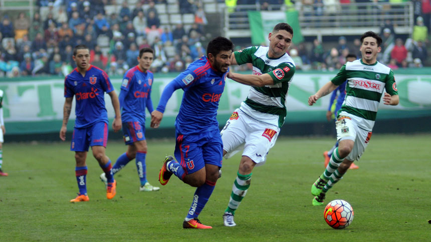
[[[154,108],[151,101],[153,73],[143,72],[138,65],[127,70],[121,82],[121,120],[145,123],[145,107],[151,113]],[[124,98],[124,99],[123,99]]]

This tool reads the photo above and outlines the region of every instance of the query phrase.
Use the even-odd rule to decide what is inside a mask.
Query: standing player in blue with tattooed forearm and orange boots
[[[104,94],[111,97],[115,110],[115,118],[112,123],[114,131],[121,128],[121,113],[118,96],[115,93],[111,80],[105,71],[90,64],[90,49],[79,44],[73,50],[73,60],[77,67],[64,79],[64,96],[66,100],[63,106],[63,125],[60,130],[60,138],[66,140],[67,122],[72,109],[73,96],[76,98],[75,127],[72,134],[70,150],[75,151],[76,180],[78,182],[78,196],[71,202],[88,201],[87,195],[87,152],[89,146],[93,156],[99,162],[106,174],[108,185],[106,197],[112,199],[116,194],[116,181],[111,170],[111,160],[105,154],[108,140],[108,112],[105,107]]]

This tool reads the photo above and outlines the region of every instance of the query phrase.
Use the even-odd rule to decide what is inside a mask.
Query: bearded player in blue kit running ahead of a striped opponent
[[[151,127],[158,127],[174,90],[184,90],[175,119],[176,160],[167,156],[159,173],[162,185],[175,174],[184,183],[197,187],[183,228],[212,228],[200,223],[197,216],[208,201],[222,167],[223,143],[216,116],[233,48],[232,41],[225,37],[209,41],[206,56],[190,63],[166,85],[156,110],[151,113]]]

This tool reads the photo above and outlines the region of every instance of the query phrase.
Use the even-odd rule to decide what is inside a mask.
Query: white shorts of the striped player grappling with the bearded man
[[[237,108],[221,131],[223,149],[228,152],[224,157],[228,159],[244,147],[243,155],[262,165],[279,132],[278,126],[258,121]]]

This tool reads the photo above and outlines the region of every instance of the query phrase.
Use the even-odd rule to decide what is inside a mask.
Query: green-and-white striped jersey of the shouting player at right
[[[357,59],[344,64],[331,81],[340,85],[346,80],[346,97],[337,114],[349,116],[359,127],[371,131],[383,90],[398,95],[393,72],[378,61],[369,65]]]

